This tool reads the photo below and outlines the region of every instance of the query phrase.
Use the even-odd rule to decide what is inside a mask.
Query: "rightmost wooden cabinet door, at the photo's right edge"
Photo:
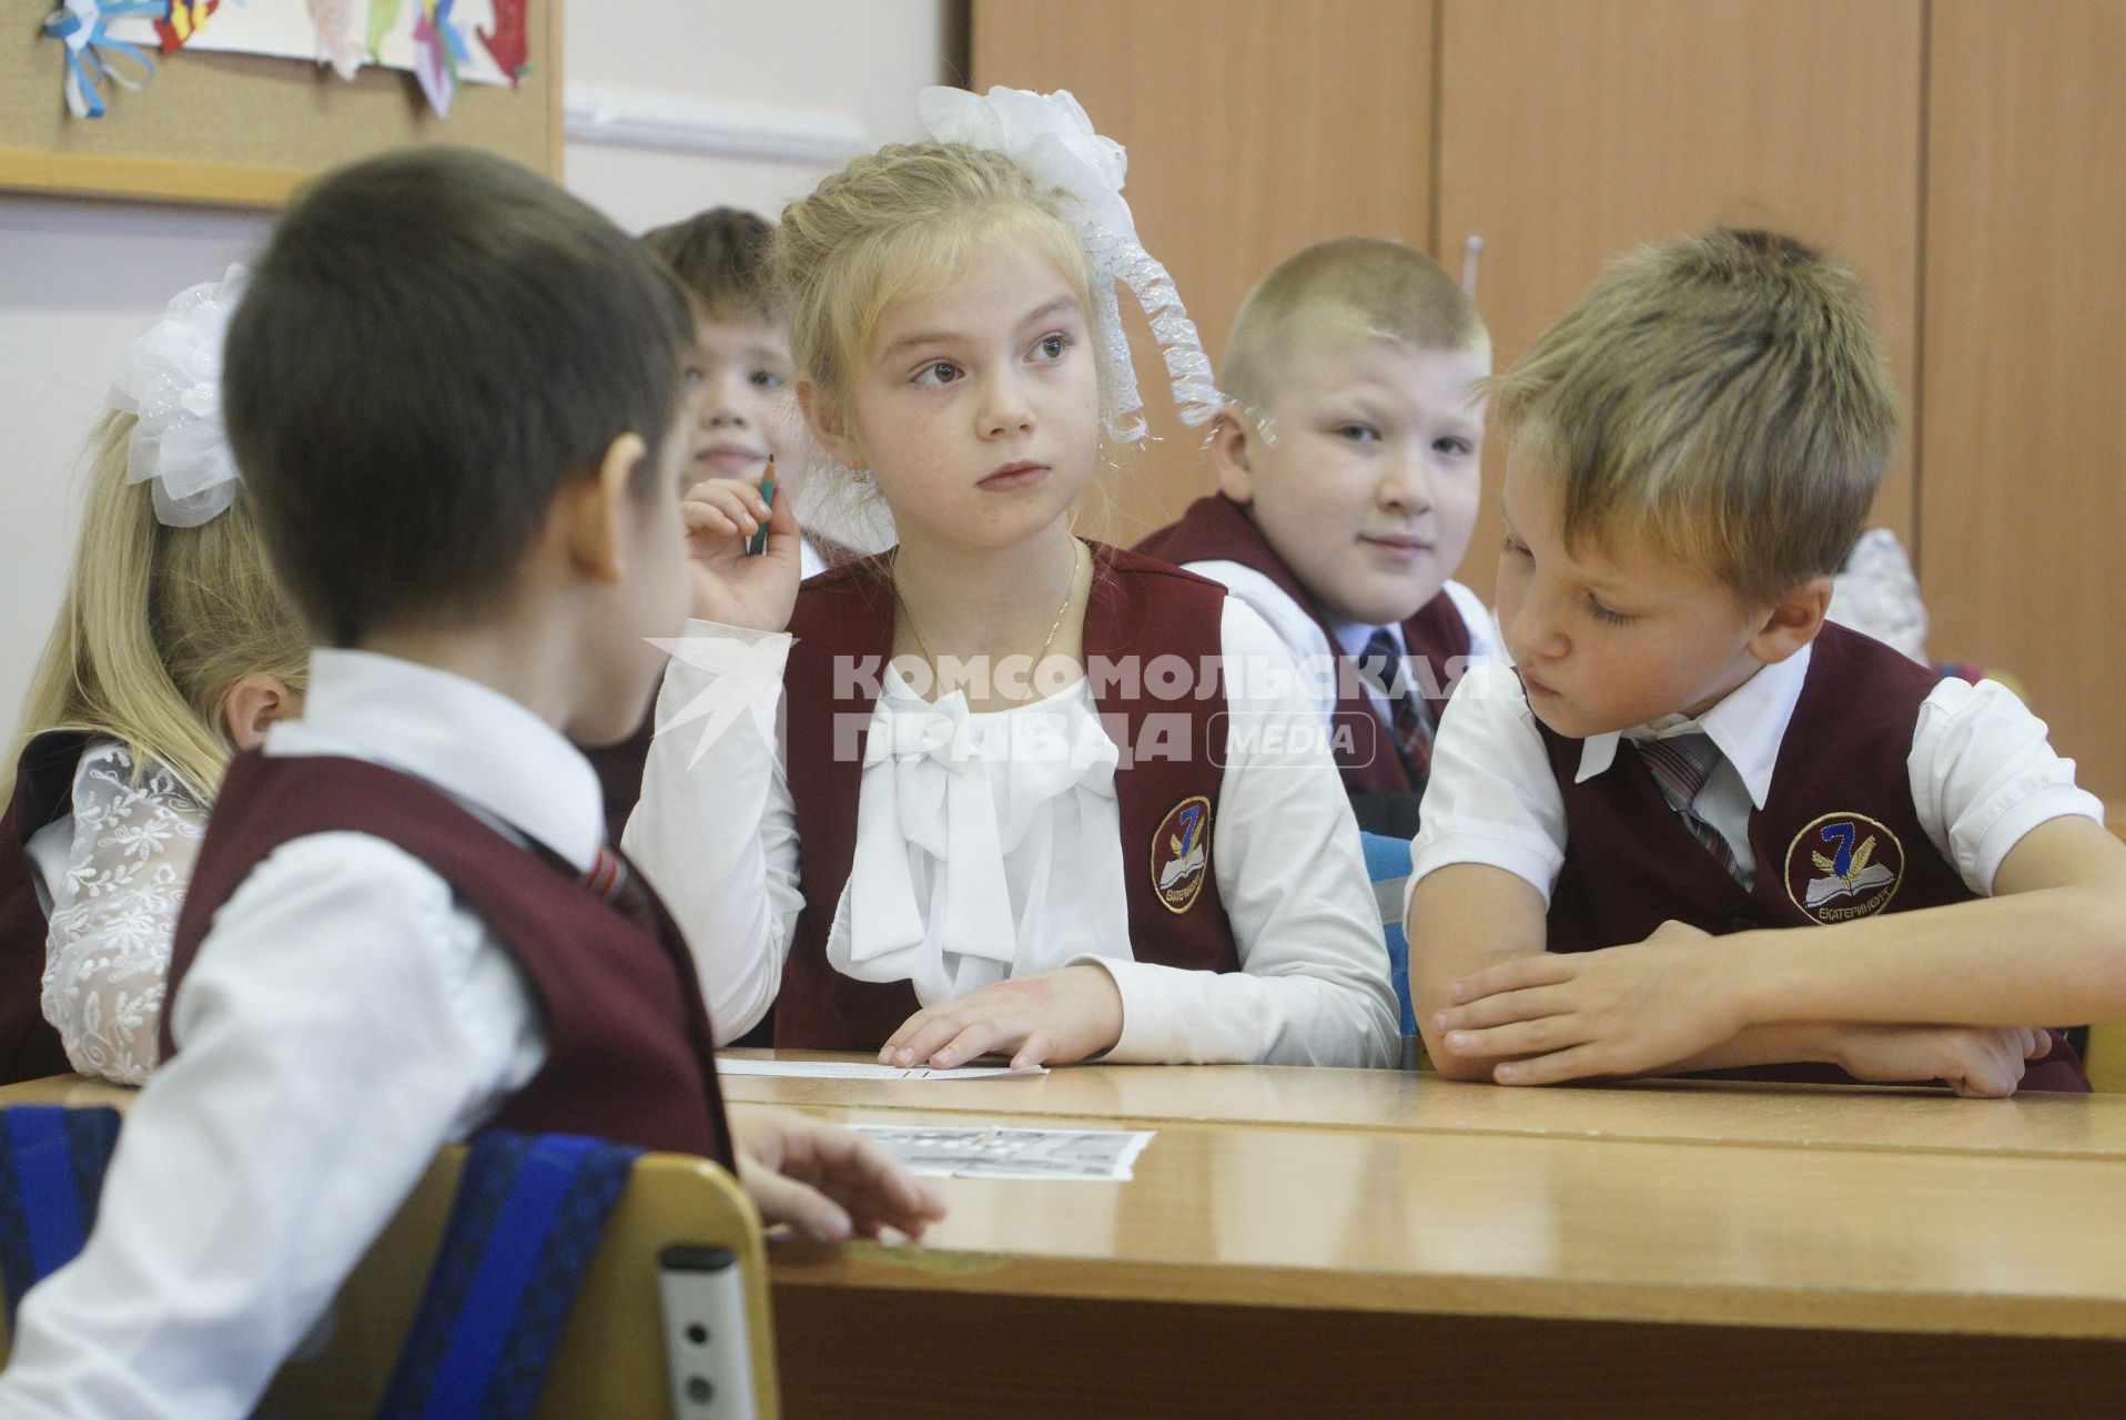
[[[1935,0],[1920,580],[2126,799],[2126,4]]]

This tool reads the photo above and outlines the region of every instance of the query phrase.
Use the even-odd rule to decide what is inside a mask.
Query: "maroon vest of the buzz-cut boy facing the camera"
[[[1331,712],[1331,744],[1335,746],[1337,772],[1344,776],[1344,793],[1416,793],[1410,772],[1388,742],[1386,723],[1373,710],[1359,682],[1356,663],[1342,653],[1329,619],[1320,604],[1299,585],[1293,570],[1284,565],[1254,519],[1222,493],[1199,497],[1182,512],[1178,523],[1161,527],[1137,544],[1146,557],[1161,561],[1237,561],[1244,568],[1267,576],[1278,591],[1297,602],[1335,653],[1337,697]],[[1469,627],[1454,606],[1454,597],[1439,593],[1418,608],[1403,623],[1403,646],[1414,661],[1422,663],[1422,687],[1433,708],[1433,723],[1446,710],[1448,693],[1469,663]],[[1439,695],[1433,695],[1439,691]]]

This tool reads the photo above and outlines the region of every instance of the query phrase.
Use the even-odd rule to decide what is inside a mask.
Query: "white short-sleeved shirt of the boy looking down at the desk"
[[[1726,840],[1745,880],[1754,880],[1750,814],[1771,793],[1811,650],[1803,646],[1760,667],[1694,721],[1671,714],[1622,733],[1588,736],[1575,782],[1607,770],[1620,740],[1705,733],[1722,759],[1692,799],[1692,812]],[[1928,691],[1905,770],[1926,840],[1979,895],[1992,893],[2001,861],[2047,818],[2081,814],[2103,823],[2103,804],[2075,787],[2075,761],[2060,759],[2045,740],[2045,723],[1992,680],[1943,680]],[[1503,867],[1531,882],[1546,903],[1565,865],[1565,797],[1520,678],[1505,663],[1471,670],[1439,719],[1424,825],[1412,844],[1412,886],[1448,863]]]

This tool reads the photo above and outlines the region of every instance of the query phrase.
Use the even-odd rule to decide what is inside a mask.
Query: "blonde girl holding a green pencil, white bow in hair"
[[[1318,716],[1225,589],[1072,534],[1142,438],[1116,287],[1220,395],[1067,94],[923,96],[931,142],[782,213],[831,476],[899,546],[797,589],[797,523],[689,495],[695,616],[627,850],[727,1035],[895,1065],[1384,1065],[1395,997]],[[767,531],[765,555],[744,555]],[[780,723],[778,723],[780,708]]]

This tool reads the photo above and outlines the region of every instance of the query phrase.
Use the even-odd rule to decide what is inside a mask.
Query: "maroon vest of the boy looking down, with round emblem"
[[[1975,893],[1928,842],[1905,770],[1920,704],[1937,684],[1935,672],[1890,646],[1824,625],[1765,808],[1750,814],[1752,891],[1692,838],[1637,750],[1618,744],[1605,772],[1575,784],[1582,740],[1537,721],[1565,797],[1550,950],[1643,942],[1671,918],[1726,935],[1971,901]],[[2022,1088],[2090,1088],[2073,1048],[2054,1042],[2024,1071]],[[1807,1067],[1779,1071],[1826,1078]]]

